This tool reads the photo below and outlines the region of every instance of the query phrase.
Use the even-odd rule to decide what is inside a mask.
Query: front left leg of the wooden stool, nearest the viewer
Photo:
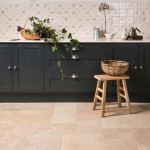
[[[101,117],[105,115],[105,101],[106,101],[106,89],[107,89],[107,81],[103,81],[103,93],[102,93],[102,112]]]

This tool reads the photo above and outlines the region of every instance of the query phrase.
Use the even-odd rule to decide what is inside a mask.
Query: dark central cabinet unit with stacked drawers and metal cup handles
[[[106,45],[103,43],[81,43],[81,45],[78,51],[72,51],[72,55],[77,55],[78,59],[72,59],[71,55],[67,54],[66,59],[61,60],[64,81],[61,81],[57,67],[57,54],[50,52],[51,45],[45,47],[45,92],[95,91],[94,75],[102,73],[100,61],[106,58]],[[59,53],[66,53],[61,43],[59,48]]]

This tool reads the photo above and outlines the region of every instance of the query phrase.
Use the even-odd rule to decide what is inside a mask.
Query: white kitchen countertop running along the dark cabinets
[[[77,38],[80,43],[150,43],[150,39],[143,39],[143,40],[122,40],[122,39],[112,39],[107,40],[105,38],[101,38],[100,40],[93,40],[87,38]],[[61,42],[69,42],[69,40],[63,40]],[[44,43],[44,40],[25,40],[25,39],[18,39],[12,41],[10,39],[0,38],[0,43]]]

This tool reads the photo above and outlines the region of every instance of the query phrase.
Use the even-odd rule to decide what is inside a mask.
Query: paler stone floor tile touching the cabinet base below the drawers
[[[57,103],[52,123],[76,123],[76,103]]]

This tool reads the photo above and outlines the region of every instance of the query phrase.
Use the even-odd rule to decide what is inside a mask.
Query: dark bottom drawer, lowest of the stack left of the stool
[[[52,79],[49,75],[45,77],[45,92],[94,92],[95,79]]]

